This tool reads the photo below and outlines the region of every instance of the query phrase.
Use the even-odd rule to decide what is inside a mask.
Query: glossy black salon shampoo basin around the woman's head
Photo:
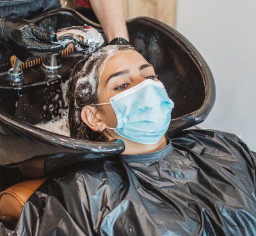
[[[88,24],[102,32],[99,24],[67,8],[49,11],[31,20],[51,31]],[[215,85],[209,67],[196,48],[175,29],[152,18],[133,18],[127,21],[127,27],[132,45],[154,65],[175,103],[168,132],[175,135],[204,121],[214,105]],[[0,55],[7,58],[0,65],[0,73],[4,73],[10,68],[11,54],[6,51]],[[73,67],[70,65],[70,70]],[[76,154],[83,154],[86,159],[90,158],[90,152],[104,158],[124,151],[122,140],[75,140],[34,126],[50,121],[59,109],[65,108],[61,84],[67,80],[70,70],[52,84],[31,84],[22,89],[0,87],[0,165],[15,166],[31,158],[63,158]],[[56,94],[55,107],[44,115],[45,103],[53,101]],[[29,109],[26,111],[24,107]]]

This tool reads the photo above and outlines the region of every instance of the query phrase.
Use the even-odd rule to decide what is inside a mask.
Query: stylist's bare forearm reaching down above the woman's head
[[[123,0],[90,0],[90,4],[102,25],[108,42],[114,38],[125,38],[129,41]]]

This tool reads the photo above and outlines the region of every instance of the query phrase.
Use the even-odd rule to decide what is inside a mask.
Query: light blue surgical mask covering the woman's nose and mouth
[[[115,132],[140,144],[156,144],[166,133],[174,107],[163,83],[151,79],[116,94],[109,100],[116,114]],[[109,103],[98,103],[105,105]]]

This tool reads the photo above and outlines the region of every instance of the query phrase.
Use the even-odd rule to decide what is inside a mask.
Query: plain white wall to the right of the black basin
[[[177,1],[177,29],[216,83],[214,108],[199,126],[235,133],[256,151],[256,1]]]

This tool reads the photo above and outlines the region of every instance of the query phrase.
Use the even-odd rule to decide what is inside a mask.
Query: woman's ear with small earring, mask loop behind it
[[[100,114],[97,112],[97,108],[89,105],[83,107],[81,110],[81,119],[93,131],[99,131],[99,128],[102,128],[103,126],[103,122],[100,119]]]

